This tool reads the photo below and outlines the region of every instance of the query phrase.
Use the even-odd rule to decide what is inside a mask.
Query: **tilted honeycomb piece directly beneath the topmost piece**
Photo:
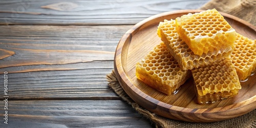
[[[201,65],[208,65],[216,60],[230,56],[231,48],[215,49],[213,52],[203,53],[201,56],[196,55],[188,45],[183,41],[176,31],[175,20],[164,20],[158,26],[158,36],[164,42],[170,54],[178,61],[180,67],[184,70],[191,70]]]

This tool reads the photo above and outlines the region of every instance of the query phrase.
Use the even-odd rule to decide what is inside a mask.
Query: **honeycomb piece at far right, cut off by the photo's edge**
[[[256,68],[256,40],[237,33],[230,57],[239,79],[245,80]]]

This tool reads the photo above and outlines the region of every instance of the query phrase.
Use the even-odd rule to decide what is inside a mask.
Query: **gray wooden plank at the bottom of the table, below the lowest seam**
[[[8,103],[8,124],[0,121],[5,127],[152,127],[150,121],[121,100],[9,100]],[[4,112],[4,108],[0,110]]]

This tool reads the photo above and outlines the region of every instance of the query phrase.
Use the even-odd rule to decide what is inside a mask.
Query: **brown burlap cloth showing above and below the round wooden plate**
[[[211,0],[200,9],[212,8],[240,17],[256,26],[256,0]],[[151,120],[156,127],[256,127],[256,110],[237,118],[211,123],[190,123],[167,119],[143,109],[134,102],[120,86],[114,71],[108,74],[106,78],[109,81],[109,86],[117,95],[129,103],[138,113]]]

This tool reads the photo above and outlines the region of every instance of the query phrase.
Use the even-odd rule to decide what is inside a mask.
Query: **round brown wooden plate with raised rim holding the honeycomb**
[[[157,35],[159,22],[200,11],[202,10],[161,13],[142,20],[128,30],[120,39],[115,53],[114,68],[117,79],[135,102],[148,111],[170,119],[214,122],[244,115],[256,109],[256,75],[250,76],[246,82],[241,82],[242,89],[235,97],[210,104],[196,103],[193,78],[189,78],[177,94],[169,96],[136,78],[136,63],[161,42]],[[221,14],[238,33],[256,39],[256,28],[253,25],[238,17]]]

